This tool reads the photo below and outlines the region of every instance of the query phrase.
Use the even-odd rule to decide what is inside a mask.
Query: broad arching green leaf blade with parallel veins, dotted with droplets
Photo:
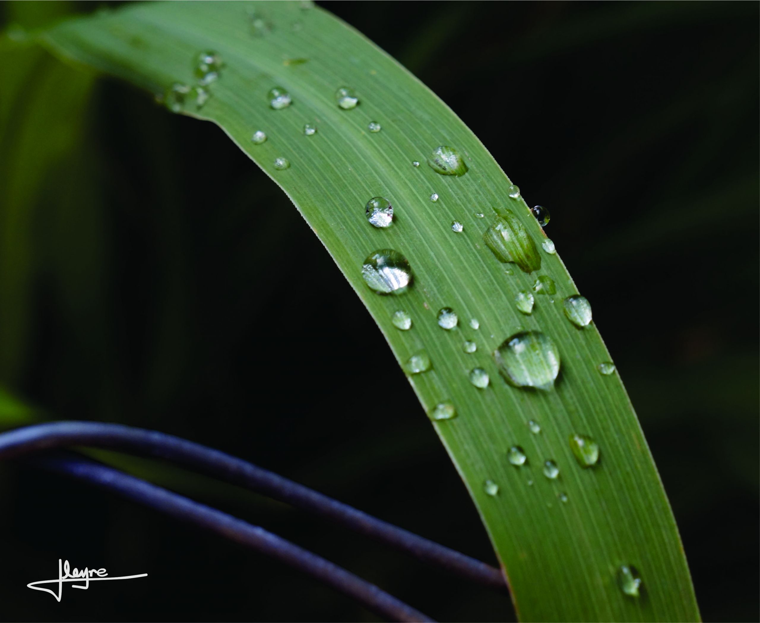
[[[578,294],[575,284],[559,255],[540,251],[543,231],[523,199],[509,196],[515,191],[499,165],[423,84],[361,34],[303,3],[128,5],[60,24],[41,40],[65,59],[150,93],[186,85],[170,93],[169,103],[219,125],[283,188],[375,318],[398,362],[422,352],[429,356],[430,369],[410,372],[410,383],[432,417],[442,413],[437,405],[454,406],[455,417],[446,409],[447,418],[432,425],[477,504],[521,619],[699,618],[673,514],[622,381],[616,372],[597,370],[611,358],[594,322],[576,327],[565,316],[563,300]],[[218,52],[223,68],[218,80],[204,85],[210,96],[199,107],[199,92],[189,87],[197,81],[195,59],[206,50]],[[290,106],[282,105],[283,93],[269,93],[274,87],[287,92]],[[341,88],[347,91],[336,96]],[[370,122],[382,130],[370,131]],[[307,123],[316,133],[304,133]],[[264,131],[268,140],[253,142],[255,131]],[[210,164],[204,183],[222,183],[214,154],[198,158]],[[435,202],[433,193],[439,196]],[[367,202],[377,197],[394,209],[387,228],[372,226],[365,216]],[[464,226],[461,232],[452,230],[454,220]],[[572,241],[559,241],[559,248],[563,244]],[[403,264],[385,251],[377,254],[388,249],[409,262],[410,284],[395,280],[399,274],[393,271]],[[373,254],[392,264],[375,260],[374,285],[404,293],[380,296],[368,287],[363,270]],[[306,255],[302,270],[311,270]],[[284,283],[288,277],[279,275]],[[536,303],[524,315],[515,295],[530,290]],[[439,326],[442,308],[454,310],[455,327],[443,328],[451,315]],[[412,318],[409,330],[394,324],[399,310]],[[335,318],[324,330],[361,348],[363,336],[341,333],[340,310]],[[300,330],[318,330],[284,329],[290,340]],[[524,352],[508,340],[521,332],[530,337]],[[465,340],[477,350],[464,348]],[[524,364],[519,374],[506,375],[512,384],[499,375],[493,356],[499,348],[502,365]],[[523,382],[553,375],[554,356],[561,361],[556,382]],[[299,365],[306,372],[320,365],[318,353]],[[470,381],[475,368],[488,375],[486,387],[482,372]],[[390,373],[366,371],[367,400],[384,391]],[[340,383],[340,370],[335,379]],[[293,375],[294,391],[297,384]],[[362,417],[361,405],[336,408]],[[529,420],[540,432],[531,432]],[[573,435],[599,445],[596,463],[579,464],[578,444],[568,441]],[[513,446],[527,455],[524,464],[508,461]],[[634,587],[638,597],[619,586],[623,566],[641,574],[641,590]]]

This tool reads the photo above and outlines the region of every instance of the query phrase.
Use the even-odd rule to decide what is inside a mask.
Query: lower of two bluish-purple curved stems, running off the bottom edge
[[[390,621],[433,621],[374,584],[280,536],[135,476],[78,457],[43,456],[30,460],[30,463],[116,492],[131,501],[276,558],[353,597]]]

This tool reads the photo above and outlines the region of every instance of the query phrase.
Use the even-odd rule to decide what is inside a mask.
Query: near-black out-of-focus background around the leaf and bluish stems
[[[99,6],[26,4],[3,3],[2,24]],[[702,615],[757,621],[758,4],[322,4],[438,93],[528,201],[552,210],[547,233],[636,406]],[[46,180],[30,212],[23,348],[0,371],[8,391],[38,416],[201,441],[493,561],[380,332],[221,131],[102,80],[76,148]],[[298,270],[303,255],[312,273]],[[0,308],[0,321],[13,317]],[[391,372],[367,403],[363,370],[375,365]],[[131,466],[435,618],[514,617],[506,597],[282,504]],[[86,485],[8,464],[0,500],[7,620],[376,620],[289,568]],[[60,604],[24,588],[55,577],[59,557],[152,579],[65,590]]]

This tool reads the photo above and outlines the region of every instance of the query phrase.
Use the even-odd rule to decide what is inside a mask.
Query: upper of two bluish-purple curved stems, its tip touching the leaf
[[[72,444],[107,447],[179,463],[318,514],[467,580],[498,590],[506,589],[502,572],[489,564],[379,520],[252,463],[173,435],[119,424],[51,422],[2,433],[0,459]]]

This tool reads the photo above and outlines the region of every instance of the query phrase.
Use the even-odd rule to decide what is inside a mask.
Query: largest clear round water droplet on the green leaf
[[[508,337],[493,353],[505,380],[516,387],[549,391],[559,374],[559,352],[540,331],[521,331]]]

